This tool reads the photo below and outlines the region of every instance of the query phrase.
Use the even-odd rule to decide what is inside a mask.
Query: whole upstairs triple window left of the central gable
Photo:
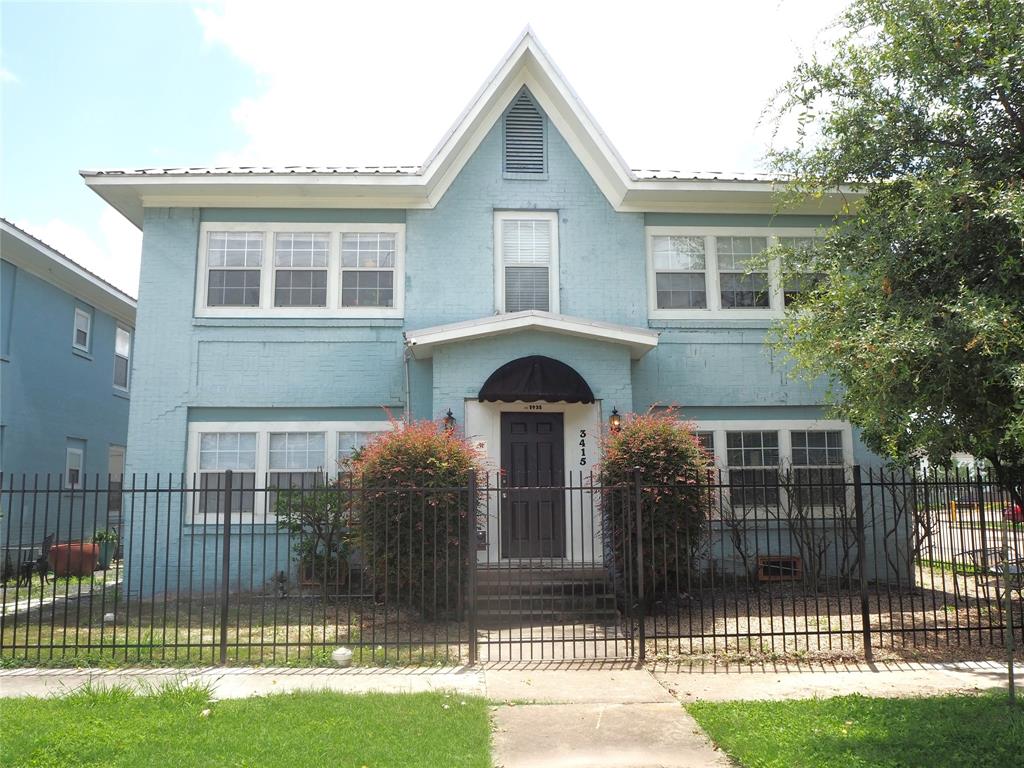
[[[203,224],[197,316],[400,317],[404,224]]]

